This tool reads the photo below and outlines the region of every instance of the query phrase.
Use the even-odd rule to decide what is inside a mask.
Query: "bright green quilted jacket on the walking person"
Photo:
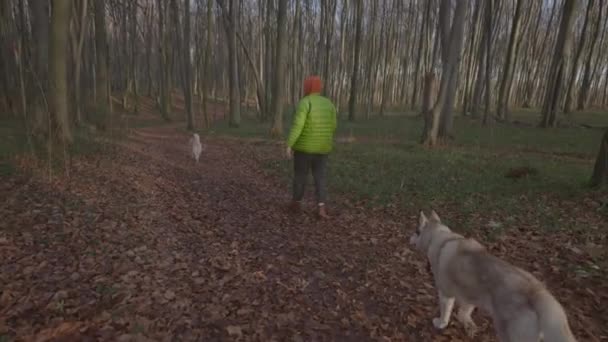
[[[336,126],[334,104],[319,94],[308,95],[298,103],[287,144],[294,151],[328,154]]]

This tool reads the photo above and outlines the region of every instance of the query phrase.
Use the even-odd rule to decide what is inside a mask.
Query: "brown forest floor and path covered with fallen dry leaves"
[[[69,177],[3,176],[0,341],[472,341],[457,322],[432,327],[436,292],[408,246],[416,210],[340,193],[329,220],[312,206],[291,216],[283,169],[267,167],[288,167],[280,145],[208,135],[195,164],[182,126],[136,128],[112,153],[75,158]],[[598,201],[546,195],[555,222],[583,229],[547,233],[520,210],[485,241],[510,214],[466,220],[546,282],[581,341],[608,340]],[[437,209],[459,222],[459,208]],[[474,340],[494,341],[487,317],[474,319]]]

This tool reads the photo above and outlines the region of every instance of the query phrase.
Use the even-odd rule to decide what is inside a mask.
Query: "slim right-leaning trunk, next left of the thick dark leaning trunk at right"
[[[525,0],[516,0],[515,16],[513,17],[513,26],[511,27],[511,35],[509,37],[509,47],[507,49],[507,58],[505,58],[505,66],[503,68],[502,81],[498,92],[498,106],[496,108],[497,115],[501,119],[509,120],[509,95],[511,93],[511,84],[513,82],[513,70],[517,61],[517,53],[519,48],[519,27],[521,21],[522,5]]]

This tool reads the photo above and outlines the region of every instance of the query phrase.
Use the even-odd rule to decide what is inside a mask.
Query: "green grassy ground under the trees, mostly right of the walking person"
[[[521,112],[529,122],[538,112]],[[584,113],[593,125],[608,125],[608,113]],[[602,121],[605,120],[605,121]],[[287,118],[285,132],[289,127]],[[270,124],[244,121],[240,128],[219,124],[213,134],[247,138],[268,136]],[[555,198],[581,198],[588,188],[602,130],[580,127],[541,129],[535,126],[483,126],[456,117],[455,140],[448,147],[428,149],[419,144],[423,122],[413,115],[372,117],[354,123],[340,120],[337,136],[355,138],[337,143],[330,157],[330,193],[345,194],[372,206],[399,203],[407,209],[449,205],[460,218],[481,211],[505,212],[507,222],[491,228],[500,236],[508,220],[535,211],[547,229],[565,228]],[[291,164],[273,159],[265,167],[288,186]],[[537,174],[512,179],[512,169],[533,168]],[[310,182],[312,185],[312,181]],[[312,193],[312,186],[309,188]],[[533,208],[532,208],[533,207]]]

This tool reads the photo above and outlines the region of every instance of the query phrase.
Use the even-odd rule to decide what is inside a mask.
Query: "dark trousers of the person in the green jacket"
[[[308,173],[312,170],[315,181],[315,196],[317,203],[325,203],[327,198],[327,183],[325,172],[327,169],[326,154],[310,154],[294,151],[293,153],[293,200],[301,201],[306,190]]]

